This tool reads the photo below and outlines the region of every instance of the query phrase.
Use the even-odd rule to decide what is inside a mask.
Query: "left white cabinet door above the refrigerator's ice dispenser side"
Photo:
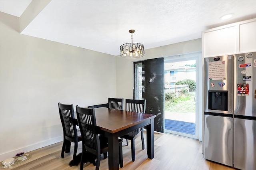
[[[236,52],[236,26],[204,32],[202,45],[204,57],[234,54]]]

